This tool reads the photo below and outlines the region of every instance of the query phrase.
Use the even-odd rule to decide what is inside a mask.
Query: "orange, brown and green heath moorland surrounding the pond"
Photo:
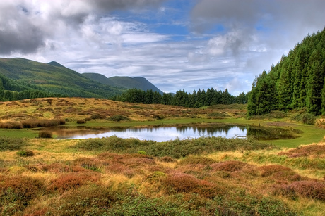
[[[30,125],[0,129],[1,215],[325,215],[323,121],[314,120],[317,128],[300,124],[293,117],[299,113],[280,114],[246,120],[243,105],[196,109],[103,99],[1,103],[2,125]],[[290,141],[155,142],[35,138],[31,129],[47,122],[74,127],[78,120],[101,127],[237,122],[305,133]]]

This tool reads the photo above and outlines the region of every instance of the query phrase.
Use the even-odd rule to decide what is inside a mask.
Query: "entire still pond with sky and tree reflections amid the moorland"
[[[47,129],[49,130],[49,129]],[[297,131],[279,127],[253,127],[242,125],[179,126],[179,127],[56,127],[50,129],[57,139],[88,139],[117,136],[140,140],[169,141],[191,139],[201,136],[223,136],[225,138],[246,138],[254,136],[259,140],[294,139]]]

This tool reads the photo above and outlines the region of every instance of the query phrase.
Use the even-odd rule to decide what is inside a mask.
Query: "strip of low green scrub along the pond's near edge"
[[[259,143],[254,139],[225,139],[223,137],[200,137],[196,139],[174,139],[167,142],[122,139],[110,136],[101,139],[79,141],[74,148],[86,151],[112,151],[116,153],[138,153],[145,151],[157,157],[184,158],[187,155],[213,153],[215,151],[250,151],[273,149],[276,146]]]

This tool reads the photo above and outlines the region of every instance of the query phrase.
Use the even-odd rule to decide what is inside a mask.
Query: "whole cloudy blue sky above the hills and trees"
[[[0,57],[238,95],[325,27],[324,0],[0,1]]]

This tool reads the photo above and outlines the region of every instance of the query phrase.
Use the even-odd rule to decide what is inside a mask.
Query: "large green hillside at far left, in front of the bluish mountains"
[[[124,90],[90,80],[56,62],[46,64],[24,58],[0,58],[0,74],[66,96],[108,98]]]

